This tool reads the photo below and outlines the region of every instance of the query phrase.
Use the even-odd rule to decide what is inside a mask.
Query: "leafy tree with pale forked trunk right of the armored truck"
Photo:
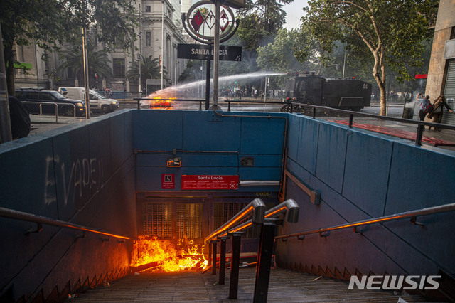
[[[311,28],[323,50],[330,52],[334,41],[342,41],[363,62],[374,62],[372,73],[380,90],[380,115],[385,115],[387,68],[402,78],[410,78],[405,63],[422,63],[420,55],[429,35],[427,13],[431,2],[309,0],[302,21]]]

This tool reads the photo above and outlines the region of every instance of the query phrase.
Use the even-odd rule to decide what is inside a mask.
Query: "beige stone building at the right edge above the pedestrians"
[[[453,110],[455,109],[454,16],[455,0],[440,0],[425,91],[425,95],[429,95],[431,100],[444,95]],[[455,124],[455,115],[444,115],[442,123]]]

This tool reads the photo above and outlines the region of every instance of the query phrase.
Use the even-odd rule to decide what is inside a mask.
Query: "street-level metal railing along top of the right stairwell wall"
[[[309,104],[302,104],[299,102],[272,102],[272,101],[240,101],[240,100],[225,100],[225,102],[228,102],[228,111],[230,111],[230,103],[231,102],[236,102],[236,103],[261,103],[261,104],[275,104],[275,105],[289,105],[289,112],[301,112],[302,107],[309,107],[311,108],[311,116],[313,119],[316,118],[316,110],[324,110],[324,111],[331,111],[331,112],[338,112],[338,113],[344,113],[347,114],[349,117],[349,124],[348,127],[351,128],[353,127],[353,118],[354,116],[360,116],[360,117],[372,117],[375,119],[382,119],[386,121],[394,121],[394,122],[400,122],[404,124],[414,124],[417,125],[417,137],[415,139],[415,144],[416,145],[422,145],[422,136],[423,132],[426,126],[428,127],[435,127],[439,129],[450,129],[450,130],[455,130],[455,125],[449,125],[449,124],[440,124],[440,123],[432,123],[432,122],[423,122],[423,121],[417,121],[417,120],[411,120],[411,119],[402,119],[402,118],[395,118],[395,117],[387,117],[387,116],[380,116],[380,115],[375,115],[375,114],[368,114],[365,112],[352,112],[350,110],[341,110],[338,108],[333,108],[333,107],[326,107],[326,106],[320,106],[320,105],[309,105]],[[299,111],[294,111],[294,109],[298,109]]]

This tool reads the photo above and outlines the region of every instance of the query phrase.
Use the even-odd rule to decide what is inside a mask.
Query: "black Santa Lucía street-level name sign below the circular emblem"
[[[213,60],[213,46],[207,44],[178,44],[177,58]],[[220,60],[241,61],[241,46],[220,46]]]

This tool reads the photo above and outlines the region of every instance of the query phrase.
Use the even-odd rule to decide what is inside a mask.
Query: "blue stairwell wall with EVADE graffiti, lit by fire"
[[[0,206],[135,236],[132,112],[116,112],[0,145]],[[121,222],[122,224],[119,224]],[[45,297],[129,265],[131,243],[0,218],[1,293]],[[109,252],[109,253],[106,253]]]

